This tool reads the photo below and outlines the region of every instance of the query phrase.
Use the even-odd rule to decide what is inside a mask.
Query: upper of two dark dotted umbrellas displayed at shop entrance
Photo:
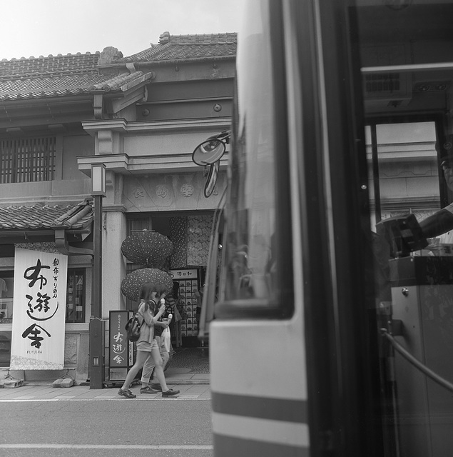
[[[157,231],[136,231],[121,244],[121,253],[128,261],[161,268],[166,258],[173,252],[173,243]]]

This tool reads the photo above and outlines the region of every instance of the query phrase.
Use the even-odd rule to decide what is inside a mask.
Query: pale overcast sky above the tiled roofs
[[[237,32],[245,0],[0,0],[0,61],[94,53],[130,56],[171,35]]]

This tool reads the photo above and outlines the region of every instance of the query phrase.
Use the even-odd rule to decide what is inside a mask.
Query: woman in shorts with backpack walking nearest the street
[[[136,377],[136,374],[143,367],[149,357],[153,358],[156,366],[155,373],[159,383],[162,387],[162,396],[170,397],[177,395],[179,391],[173,391],[168,388],[166,378],[163,374],[162,357],[159,351],[158,344],[154,338],[154,326],[163,326],[167,328],[168,325],[163,322],[159,322],[159,318],[165,311],[165,288],[160,285],[153,283],[146,283],[140,291],[140,304],[138,306],[138,320],[141,322],[140,338],[137,341],[137,356],[136,363],[133,364],[132,368],[128,371],[126,381],[118,391],[118,395],[126,398],[136,398],[130,390],[132,381]],[[159,298],[157,298],[159,297]],[[157,301],[160,300],[161,307],[157,310]],[[156,312],[157,311],[157,312]]]

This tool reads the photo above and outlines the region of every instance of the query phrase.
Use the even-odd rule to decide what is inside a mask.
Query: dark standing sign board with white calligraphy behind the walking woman
[[[133,343],[128,341],[126,323],[131,311],[110,311],[108,332],[108,378],[124,381],[128,369],[133,366]]]

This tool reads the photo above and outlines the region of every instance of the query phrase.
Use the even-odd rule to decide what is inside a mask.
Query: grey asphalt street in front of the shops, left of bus
[[[210,398],[151,397],[0,401],[0,456],[213,455]]]

